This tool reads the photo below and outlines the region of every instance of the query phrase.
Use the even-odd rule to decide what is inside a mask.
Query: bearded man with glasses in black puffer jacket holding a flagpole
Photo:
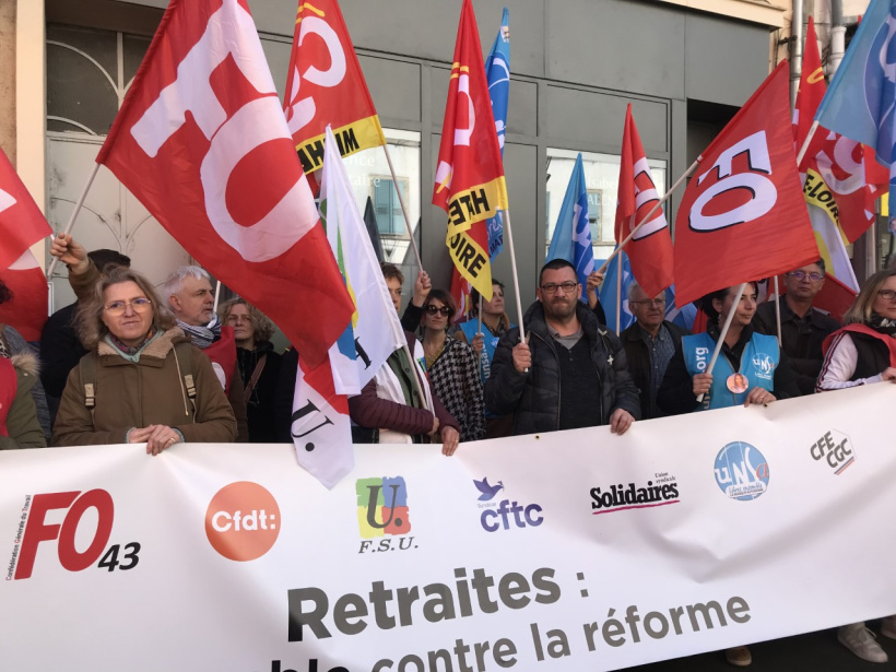
[[[485,405],[496,415],[515,413],[515,435],[608,424],[623,434],[640,417],[622,343],[579,296],[573,264],[549,261],[539,300],[523,317],[529,343],[519,342],[519,328],[498,343]]]

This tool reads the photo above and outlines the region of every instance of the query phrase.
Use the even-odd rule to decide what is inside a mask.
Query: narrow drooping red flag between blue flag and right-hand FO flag
[[[616,243],[625,240],[641,220],[659,202],[647,155],[632,116],[632,104],[625,110],[622,135],[620,190],[616,203]],[[638,229],[625,246],[632,262],[632,273],[648,296],[656,296],[674,281],[672,279],[672,236],[662,208]]]

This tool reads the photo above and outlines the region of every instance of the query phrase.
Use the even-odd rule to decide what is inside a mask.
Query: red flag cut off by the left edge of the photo
[[[0,323],[26,341],[39,340],[47,320],[47,279],[28,248],[49,235],[52,228],[0,151],[0,280],[13,295],[0,305]]]

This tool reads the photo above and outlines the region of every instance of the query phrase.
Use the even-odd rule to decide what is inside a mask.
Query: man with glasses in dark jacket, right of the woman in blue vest
[[[781,297],[781,349],[790,358],[800,394],[812,394],[822,370],[822,343],[840,325],[829,315],[812,307],[825,284],[823,259],[785,273],[787,294]],[[756,308],[753,328],[759,333],[778,334],[775,302]]]

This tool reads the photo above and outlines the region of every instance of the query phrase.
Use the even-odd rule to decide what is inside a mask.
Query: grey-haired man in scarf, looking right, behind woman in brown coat
[[[233,327],[227,327],[227,331],[222,334],[221,320],[214,311],[214,292],[209,273],[198,266],[181,266],[168,275],[160,294],[163,299],[168,299],[168,307],[177,318],[177,326],[193,345],[209,355],[221,386],[227,390],[227,400],[236,417],[237,440],[248,441],[246,398],[237,364]]]

